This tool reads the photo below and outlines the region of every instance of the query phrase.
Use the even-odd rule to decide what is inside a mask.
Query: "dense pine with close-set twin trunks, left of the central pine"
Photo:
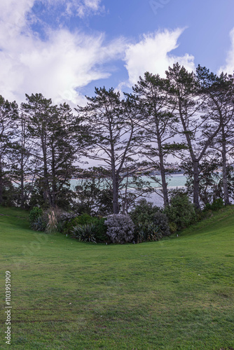
[[[26,94],[27,103],[21,105],[27,116],[27,130],[34,141],[32,154],[37,164],[35,174],[41,179],[43,202],[48,207],[65,205],[69,180],[74,174],[78,148],[74,133],[78,120],[67,104],[53,106],[42,94]]]

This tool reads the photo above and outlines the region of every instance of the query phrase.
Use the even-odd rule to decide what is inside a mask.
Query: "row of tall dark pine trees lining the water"
[[[217,76],[201,66],[188,72],[178,63],[169,67],[166,78],[145,73],[124,98],[112,88],[95,88],[95,97],[87,97],[76,115],[69,105],[55,106],[41,94],[26,95],[20,108],[1,97],[0,204],[15,182],[15,203],[21,207],[61,207],[66,198],[77,204],[85,189],[97,196],[96,204],[109,204],[106,211],[126,213],[137,196],[150,191],[139,173],[149,175],[155,169],[166,207],[168,160],[174,157],[188,176],[195,207],[200,209],[214,195],[228,205],[233,195],[233,116],[234,76]],[[78,167],[81,158],[102,167],[91,176]],[[71,191],[72,176],[83,177],[86,187]]]

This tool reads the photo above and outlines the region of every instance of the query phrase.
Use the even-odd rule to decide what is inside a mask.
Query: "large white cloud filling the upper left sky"
[[[22,102],[25,92],[41,92],[56,103],[66,100],[82,104],[84,97],[78,89],[110,76],[104,64],[120,57],[125,40],[119,38],[105,45],[103,34],[47,29],[48,38],[43,41],[27,26],[26,14],[34,1],[24,0],[20,5],[15,0],[10,2],[0,7],[0,65],[4,67],[0,94]],[[99,1],[87,0],[85,4],[96,9]]]

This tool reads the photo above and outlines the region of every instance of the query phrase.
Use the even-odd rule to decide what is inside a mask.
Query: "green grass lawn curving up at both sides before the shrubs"
[[[234,344],[234,208],[179,237],[83,244],[29,230],[0,208],[1,327],[12,274],[11,349],[219,350]]]

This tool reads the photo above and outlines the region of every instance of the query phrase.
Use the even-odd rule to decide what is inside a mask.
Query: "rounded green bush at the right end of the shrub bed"
[[[174,191],[170,197],[170,206],[164,209],[164,213],[170,223],[177,225],[178,230],[187,228],[198,220],[194,205],[186,193],[180,190]]]

